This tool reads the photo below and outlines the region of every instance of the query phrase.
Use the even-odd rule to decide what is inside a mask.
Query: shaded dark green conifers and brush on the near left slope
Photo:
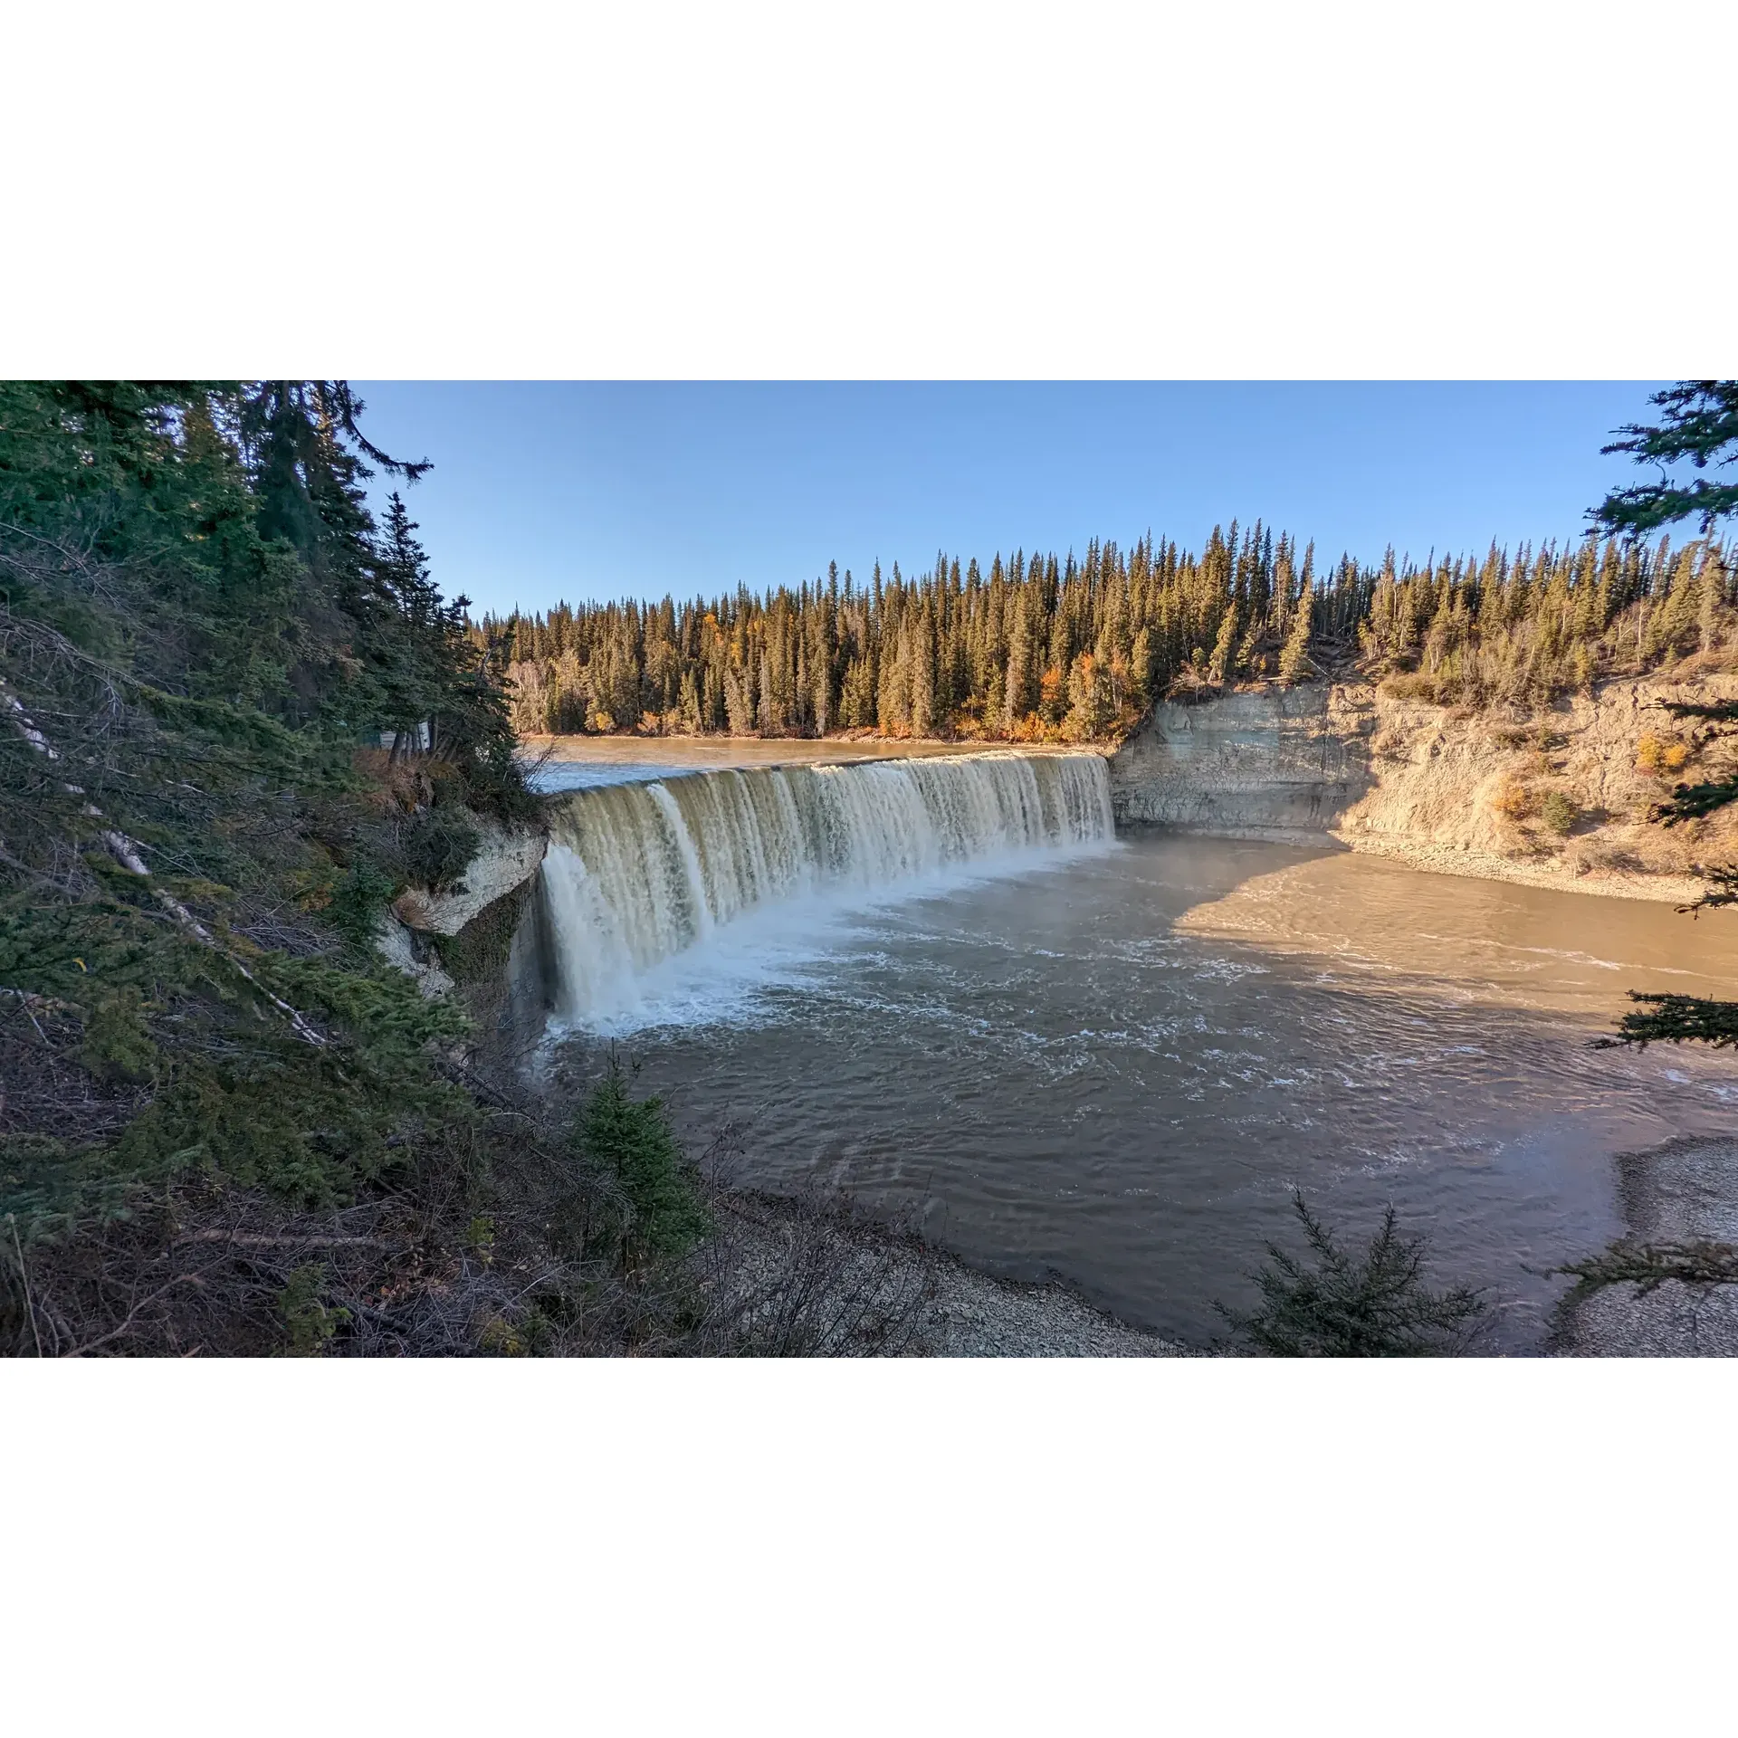
[[[659,1102],[483,1078],[511,902],[452,996],[379,952],[542,808],[362,408],[0,382],[0,1356],[620,1349],[688,1304]]]

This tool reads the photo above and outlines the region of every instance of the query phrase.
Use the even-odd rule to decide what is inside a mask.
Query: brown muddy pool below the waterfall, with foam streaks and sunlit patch
[[[1196,1343],[1297,1185],[1354,1236],[1392,1201],[1493,1349],[1538,1350],[1550,1269],[1623,1229],[1616,1156],[1738,1119],[1728,1060],[1590,1046],[1627,989],[1729,992],[1738,919],[1340,850],[1064,841],[772,902],[659,973],[554,1053],[615,1043],[697,1147],[737,1126],[747,1184],[916,1211]]]

